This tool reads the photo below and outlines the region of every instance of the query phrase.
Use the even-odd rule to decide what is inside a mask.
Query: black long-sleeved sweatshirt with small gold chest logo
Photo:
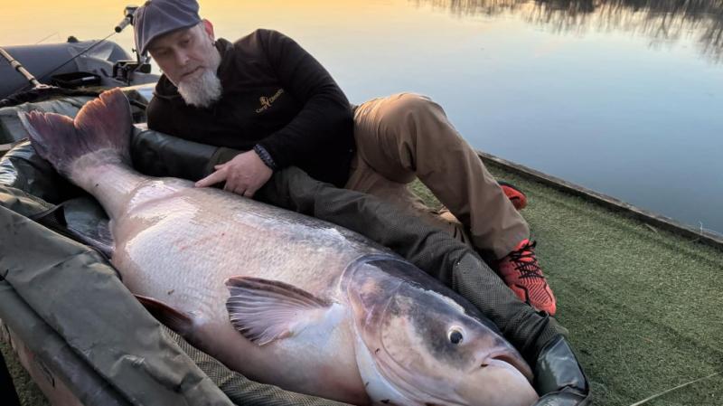
[[[329,72],[282,33],[219,39],[222,96],[208,109],[185,104],[165,75],[148,105],[148,127],[212,146],[263,146],[278,168],[296,165],[343,186],[354,140],[349,101]]]

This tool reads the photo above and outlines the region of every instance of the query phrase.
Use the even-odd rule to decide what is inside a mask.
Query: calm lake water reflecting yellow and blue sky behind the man
[[[127,3],[2,5],[0,44],[103,38]],[[723,0],[201,5],[229,40],[290,35],[352,102],[427,94],[476,148],[723,232]]]

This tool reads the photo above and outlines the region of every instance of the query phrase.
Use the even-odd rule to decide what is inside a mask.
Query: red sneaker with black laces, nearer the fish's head
[[[557,310],[555,296],[549,288],[535,257],[537,242],[522,240],[517,248],[500,260],[498,272],[504,283],[531,307],[554,315]]]

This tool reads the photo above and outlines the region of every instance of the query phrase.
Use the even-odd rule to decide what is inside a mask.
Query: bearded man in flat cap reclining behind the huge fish
[[[150,52],[164,72],[148,127],[246,151],[215,165],[197,186],[225,182],[224,189],[252,197],[273,171],[296,165],[318,180],[411,208],[492,252],[518,297],[555,313],[527,223],[441,107],[405,93],[352,111],[331,75],[290,38],[257,30],[234,43],[216,41],[198,11],[195,0],[152,0],[134,23],[136,49]],[[408,191],[416,177],[451,214],[431,212]]]

